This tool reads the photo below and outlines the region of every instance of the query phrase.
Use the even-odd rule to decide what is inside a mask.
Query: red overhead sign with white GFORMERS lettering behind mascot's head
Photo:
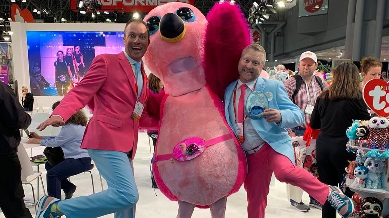
[[[159,5],[163,5],[170,2],[182,2],[194,5],[194,0],[97,0],[101,3],[100,11],[113,11],[120,12],[150,12],[152,9]],[[78,10],[77,0],[70,1],[70,8],[72,10]]]

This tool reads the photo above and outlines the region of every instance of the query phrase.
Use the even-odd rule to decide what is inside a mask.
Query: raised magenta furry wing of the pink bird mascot
[[[206,83],[223,99],[225,88],[239,77],[240,56],[243,48],[251,44],[250,28],[239,7],[229,3],[215,4],[206,18]]]

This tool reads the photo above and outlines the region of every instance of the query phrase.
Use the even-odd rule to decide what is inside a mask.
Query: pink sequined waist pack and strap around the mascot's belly
[[[156,155],[154,157],[154,162],[169,160],[173,162],[177,161],[188,161],[198,157],[205,151],[206,147],[212,146],[214,144],[229,140],[232,138],[232,134],[228,133],[217,138],[204,141],[199,137],[190,137],[179,142],[174,148],[172,154],[163,154]]]

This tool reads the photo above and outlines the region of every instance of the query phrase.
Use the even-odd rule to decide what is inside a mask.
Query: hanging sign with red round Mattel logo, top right
[[[328,13],[328,0],[299,0],[299,17]]]

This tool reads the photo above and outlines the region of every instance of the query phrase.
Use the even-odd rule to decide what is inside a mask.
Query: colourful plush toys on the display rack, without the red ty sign
[[[376,205],[380,208],[380,216],[389,217],[389,150],[373,149],[376,147],[376,143],[375,141],[368,141],[367,134],[375,134],[374,131],[367,131],[367,134],[363,134],[361,133],[360,128],[363,124],[369,125],[368,123],[372,123],[372,119],[369,121],[353,121],[353,125],[356,123],[358,123],[358,125],[355,125],[354,127],[351,126],[347,130],[346,134],[349,138],[356,138],[358,135],[359,139],[349,139],[346,144],[347,150],[356,153],[357,158],[356,160],[350,160],[350,165],[345,169],[345,185],[356,192],[353,196],[353,200],[357,202],[355,211],[357,214],[360,214],[361,217],[363,217],[361,213],[369,213],[366,213],[368,210],[364,211],[364,209],[370,208],[372,205]],[[386,120],[384,121],[387,122]],[[369,127],[369,129],[371,128]],[[354,134],[356,137],[354,137]],[[375,135],[374,138],[377,138],[377,141],[380,141],[380,138],[378,138],[377,135]],[[385,138],[385,140],[387,140],[387,138]],[[380,148],[389,148],[388,143],[377,145]],[[358,169],[357,166],[359,166]],[[376,188],[374,184],[377,184],[378,178],[380,184]],[[367,184],[369,184],[368,186],[370,188],[365,187]],[[367,216],[369,217],[371,215],[372,214],[368,214]],[[379,217],[378,214],[376,215]]]

